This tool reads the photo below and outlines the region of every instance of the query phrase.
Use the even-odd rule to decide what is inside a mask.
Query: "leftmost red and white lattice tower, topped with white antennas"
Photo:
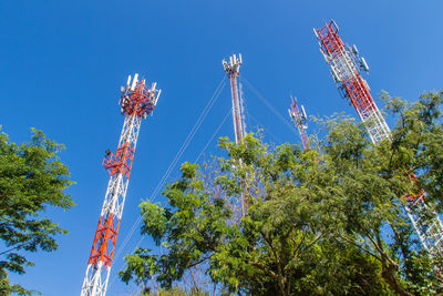
[[[122,86],[120,104],[125,120],[117,151],[115,154],[106,151],[103,160],[103,166],[111,176],[87,262],[82,296],[106,293],[140,125],[142,119],[153,112],[161,93],[155,86],[156,83],[153,83],[148,88],[144,79],[138,81],[138,74],[134,79],[130,75],[126,86]]]

